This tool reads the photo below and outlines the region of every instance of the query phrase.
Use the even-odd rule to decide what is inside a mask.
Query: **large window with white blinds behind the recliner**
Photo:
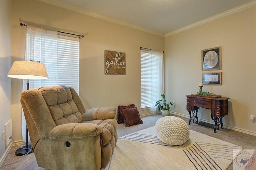
[[[79,39],[27,33],[27,60],[45,64],[48,79],[30,80],[30,88],[66,85],[79,94]]]

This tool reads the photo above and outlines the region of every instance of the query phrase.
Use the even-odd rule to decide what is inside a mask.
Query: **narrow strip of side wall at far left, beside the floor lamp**
[[[11,1],[0,1],[0,165],[8,151],[2,141],[2,131],[11,119],[11,78],[6,76],[11,67],[11,9]]]

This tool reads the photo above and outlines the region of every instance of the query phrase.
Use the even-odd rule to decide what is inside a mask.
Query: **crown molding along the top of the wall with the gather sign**
[[[85,15],[92,16],[92,17],[95,17],[95,18],[99,18],[99,19],[102,19],[102,20],[105,20],[105,21],[110,21],[110,22],[113,22],[113,23],[117,23],[119,25],[124,25],[126,27],[130,27],[130,28],[133,28],[133,29],[144,31],[146,33],[150,33],[150,34],[158,35],[160,37],[164,37],[164,34],[162,34],[162,33],[158,33],[158,32],[152,31],[150,29],[146,29],[144,27],[140,27],[140,26],[132,24],[132,23],[128,23],[128,22],[125,22],[125,21],[117,20],[115,18],[111,18],[111,17],[108,17],[108,16],[97,14],[95,12],[92,12],[92,11],[89,11],[89,10],[85,10],[83,8],[79,8],[79,7],[70,5],[70,4],[66,4],[64,2],[59,2],[57,0],[38,0],[38,1],[45,2],[45,3],[48,3],[48,4],[52,4],[54,6],[58,6],[58,7],[61,7],[61,8],[66,8],[68,10],[79,12],[81,14],[85,14]]]

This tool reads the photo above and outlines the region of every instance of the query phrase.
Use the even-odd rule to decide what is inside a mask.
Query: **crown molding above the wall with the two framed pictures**
[[[174,34],[176,34],[176,33],[180,33],[180,32],[182,32],[182,31],[185,31],[185,30],[187,30],[187,29],[196,27],[196,26],[198,26],[198,25],[202,25],[202,24],[204,24],[204,23],[208,23],[208,22],[210,22],[210,21],[217,20],[217,19],[219,19],[219,18],[228,16],[228,15],[230,15],[230,14],[234,14],[234,13],[236,13],[236,12],[245,10],[245,9],[250,8],[250,7],[252,7],[252,6],[255,6],[255,5],[256,5],[256,0],[253,0],[253,1],[251,1],[251,2],[248,2],[248,3],[246,3],[246,4],[243,4],[243,5],[241,5],[241,6],[238,6],[238,7],[236,7],[236,8],[232,8],[231,10],[222,12],[222,13],[217,14],[217,15],[215,15],[215,16],[206,18],[206,19],[204,19],[204,20],[201,20],[201,21],[192,23],[192,24],[187,25],[187,26],[185,26],[185,27],[182,27],[182,28],[180,28],[180,29],[176,29],[176,30],[174,30],[174,31],[171,31],[171,32],[169,32],[169,33],[166,33],[166,34],[164,35],[164,37],[168,37],[168,36],[174,35]]]

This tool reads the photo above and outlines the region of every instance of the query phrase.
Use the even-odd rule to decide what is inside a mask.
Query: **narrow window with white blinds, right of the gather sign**
[[[159,100],[159,62],[151,51],[140,52],[140,107],[154,106]]]

